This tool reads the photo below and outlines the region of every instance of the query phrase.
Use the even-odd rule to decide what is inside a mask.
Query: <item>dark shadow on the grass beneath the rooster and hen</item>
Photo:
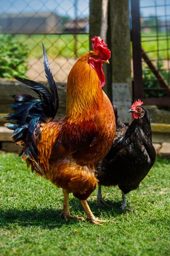
[[[108,207],[104,205],[98,205],[97,201],[88,201],[88,204],[91,208],[91,211],[96,217],[99,217],[101,212],[105,212],[105,216],[107,213],[111,216],[115,216],[117,214],[122,214],[120,209],[119,202],[107,201]],[[86,216],[82,216],[81,213],[84,214],[84,210],[81,206],[79,200],[75,200],[74,198],[70,200],[71,213],[74,211],[74,214],[81,215],[80,217],[86,218]],[[26,227],[26,226],[40,226],[42,228],[61,228],[62,225],[72,225],[79,220],[70,219],[68,221],[62,219],[60,217],[60,213],[62,209],[0,209],[0,227],[1,228],[12,228],[16,226]]]

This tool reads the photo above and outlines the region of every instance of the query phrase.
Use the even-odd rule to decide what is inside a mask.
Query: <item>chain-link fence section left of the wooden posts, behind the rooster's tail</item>
[[[77,58],[89,50],[89,1],[0,0],[0,34],[26,45],[29,79],[46,81],[43,43],[55,81],[66,82]]]

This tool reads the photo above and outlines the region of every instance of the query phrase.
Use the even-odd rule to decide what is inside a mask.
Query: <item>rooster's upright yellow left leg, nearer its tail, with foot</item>
[[[80,218],[78,216],[73,216],[70,214],[69,193],[68,191],[66,191],[66,189],[63,189],[63,194],[64,194],[64,206],[63,206],[63,211],[60,214],[60,217],[64,218],[64,220],[68,220],[69,218],[75,218],[77,220],[84,221],[84,218]]]

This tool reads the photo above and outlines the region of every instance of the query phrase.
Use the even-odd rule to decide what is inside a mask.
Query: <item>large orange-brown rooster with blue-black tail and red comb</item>
[[[50,91],[41,83],[15,79],[34,90],[13,95],[13,112],[6,116],[14,130],[12,139],[20,144],[22,160],[38,175],[63,189],[64,209],[60,216],[72,216],[69,193],[78,198],[87,219],[95,218],[86,199],[97,186],[95,164],[109,151],[115,136],[115,115],[110,100],[102,90],[105,84],[103,63],[109,63],[110,50],[100,37],[92,38],[93,51],[81,56],[72,67],[66,89],[66,116],[54,119],[58,109],[57,87],[43,45],[44,70]]]

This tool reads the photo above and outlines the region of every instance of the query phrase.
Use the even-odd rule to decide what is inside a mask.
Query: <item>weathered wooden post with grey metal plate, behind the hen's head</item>
[[[129,1],[110,1],[110,42],[113,104],[118,106],[119,119],[131,121],[127,113],[132,103]]]

